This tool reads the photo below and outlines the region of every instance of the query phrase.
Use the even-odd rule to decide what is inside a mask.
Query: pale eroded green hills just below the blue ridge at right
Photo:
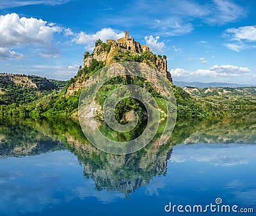
[[[218,88],[195,88],[184,87],[184,91],[193,96],[256,96],[256,87],[218,87]]]

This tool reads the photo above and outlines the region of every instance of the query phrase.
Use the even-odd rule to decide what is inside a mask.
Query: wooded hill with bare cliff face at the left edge
[[[26,104],[65,86],[35,75],[0,73],[0,105]]]

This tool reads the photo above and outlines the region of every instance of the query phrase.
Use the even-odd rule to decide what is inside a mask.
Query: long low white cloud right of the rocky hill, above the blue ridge
[[[175,68],[171,70],[171,74],[173,77],[230,77],[248,73],[250,73],[250,70],[247,67],[234,65],[214,65],[209,69],[198,69],[194,72],[184,70],[182,68]]]

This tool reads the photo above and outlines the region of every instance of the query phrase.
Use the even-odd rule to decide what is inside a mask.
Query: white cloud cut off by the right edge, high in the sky
[[[256,26],[243,26],[227,29],[225,33],[230,34],[233,40],[246,40],[256,42]]]

